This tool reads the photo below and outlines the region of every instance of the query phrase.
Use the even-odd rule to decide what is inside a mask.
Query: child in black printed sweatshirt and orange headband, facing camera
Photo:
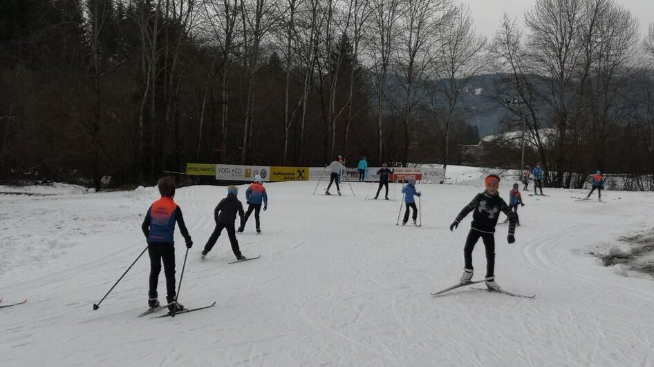
[[[469,283],[472,279],[472,250],[477,243],[479,237],[484,242],[486,248],[486,286],[489,290],[499,290],[500,286],[495,281],[495,226],[499,217],[499,212],[509,218],[509,235],[507,242],[513,244],[516,239],[514,232],[516,230],[516,215],[507,206],[497,189],[500,183],[500,177],[497,175],[488,175],[484,180],[486,190],[477,194],[470,203],[465,206],[454,219],[454,222],[449,226],[449,230],[457,228],[460,221],[468,215],[469,212],[474,210],[472,215],[472,223],[468,237],[465,239],[465,246],[463,248],[463,259],[465,260],[465,267],[463,268],[463,276],[460,279],[461,284]]]

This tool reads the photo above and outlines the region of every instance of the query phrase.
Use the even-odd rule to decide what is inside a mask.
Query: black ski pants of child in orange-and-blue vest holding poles
[[[157,298],[157,286],[161,262],[166,275],[167,300],[175,298],[175,244],[174,242],[148,242],[148,255],[150,257],[150,290],[148,297]]]

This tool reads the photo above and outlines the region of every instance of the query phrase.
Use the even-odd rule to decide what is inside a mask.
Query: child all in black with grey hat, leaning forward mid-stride
[[[239,195],[239,188],[236,186],[227,186],[227,197],[222,199],[216,208],[214,209],[214,220],[216,221],[216,228],[212,232],[211,236],[205,244],[204,250],[202,250],[202,257],[207,256],[209,251],[214,247],[218,237],[221,236],[223,228],[227,230],[227,236],[230,237],[230,244],[232,244],[232,251],[238,260],[245,260],[245,256],[241,254],[241,249],[239,248],[239,241],[236,240],[236,230],[234,230],[234,222],[236,222],[236,212],[239,213],[241,217],[241,227],[243,227],[243,204],[239,201],[239,198],[236,197]]]

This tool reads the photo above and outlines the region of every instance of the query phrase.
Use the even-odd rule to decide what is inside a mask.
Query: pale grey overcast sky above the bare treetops
[[[523,26],[523,14],[528,8],[532,8],[536,0],[458,0],[467,3],[472,10],[475,19],[477,32],[484,34],[490,39],[498,30],[502,14],[506,12],[511,19],[517,18],[521,30]],[[640,21],[640,32],[646,34],[649,23],[654,22],[654,1],[653,0],[615,0],[615,3],[630,10],[631,14]]]

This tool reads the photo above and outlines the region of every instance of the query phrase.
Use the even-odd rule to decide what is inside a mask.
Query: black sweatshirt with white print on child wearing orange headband
[[[499,214],[503,212],[509,219],[509,235],[515,233],[516,215],[499,194],[490,195],[485,191],[478,193],[467,206],[463,207],[454,221],[458,224],[473,210],[471,228],[480,232],[494,233]]]

